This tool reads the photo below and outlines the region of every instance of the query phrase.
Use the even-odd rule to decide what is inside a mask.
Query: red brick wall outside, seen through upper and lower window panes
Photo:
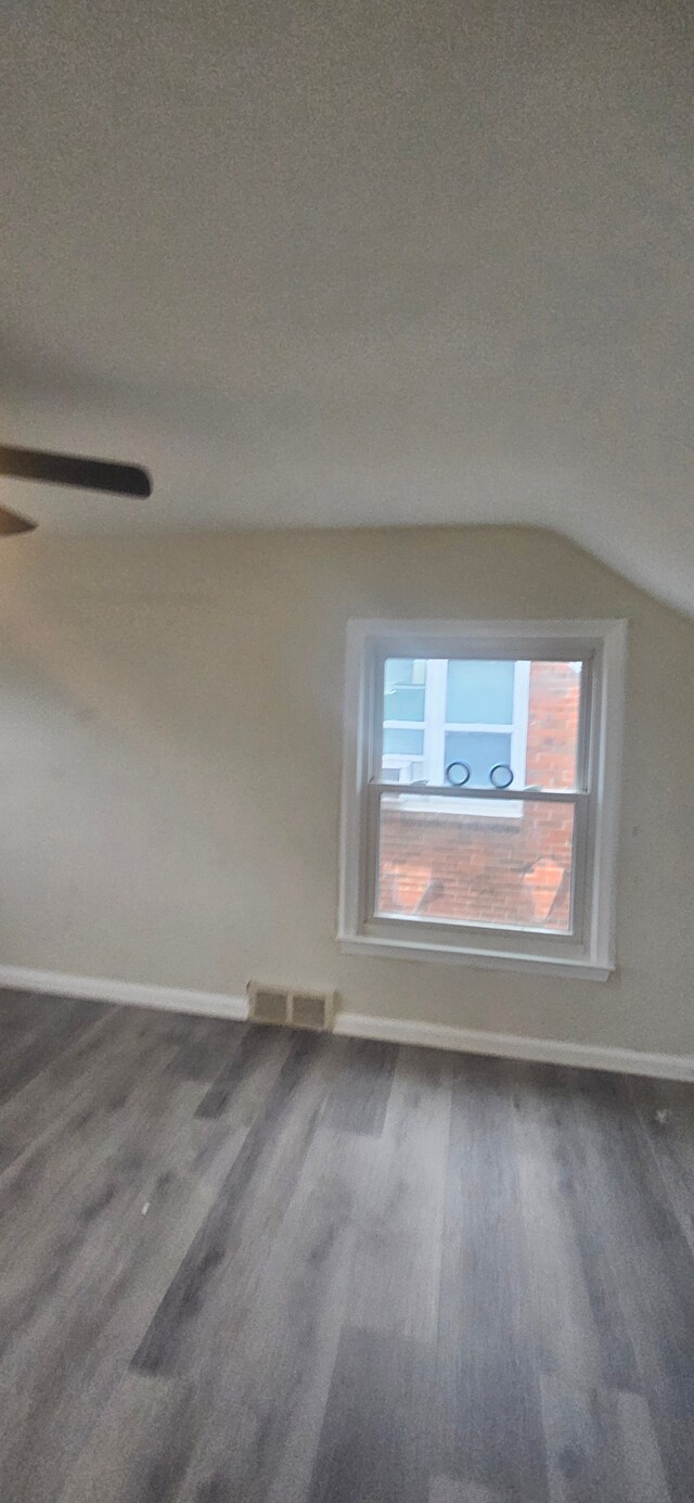
[[[530,669],[526,785],[574,786],[580,675]],[[463,809],[463,813],[461,813]],[[520,818],[382,806],[379,911],[568,929],[571,804],[523,804]]]

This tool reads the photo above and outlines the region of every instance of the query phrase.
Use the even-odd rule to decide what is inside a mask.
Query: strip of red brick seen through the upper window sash
[[[526,786],[575,788],[581,663],[530,663]]]

